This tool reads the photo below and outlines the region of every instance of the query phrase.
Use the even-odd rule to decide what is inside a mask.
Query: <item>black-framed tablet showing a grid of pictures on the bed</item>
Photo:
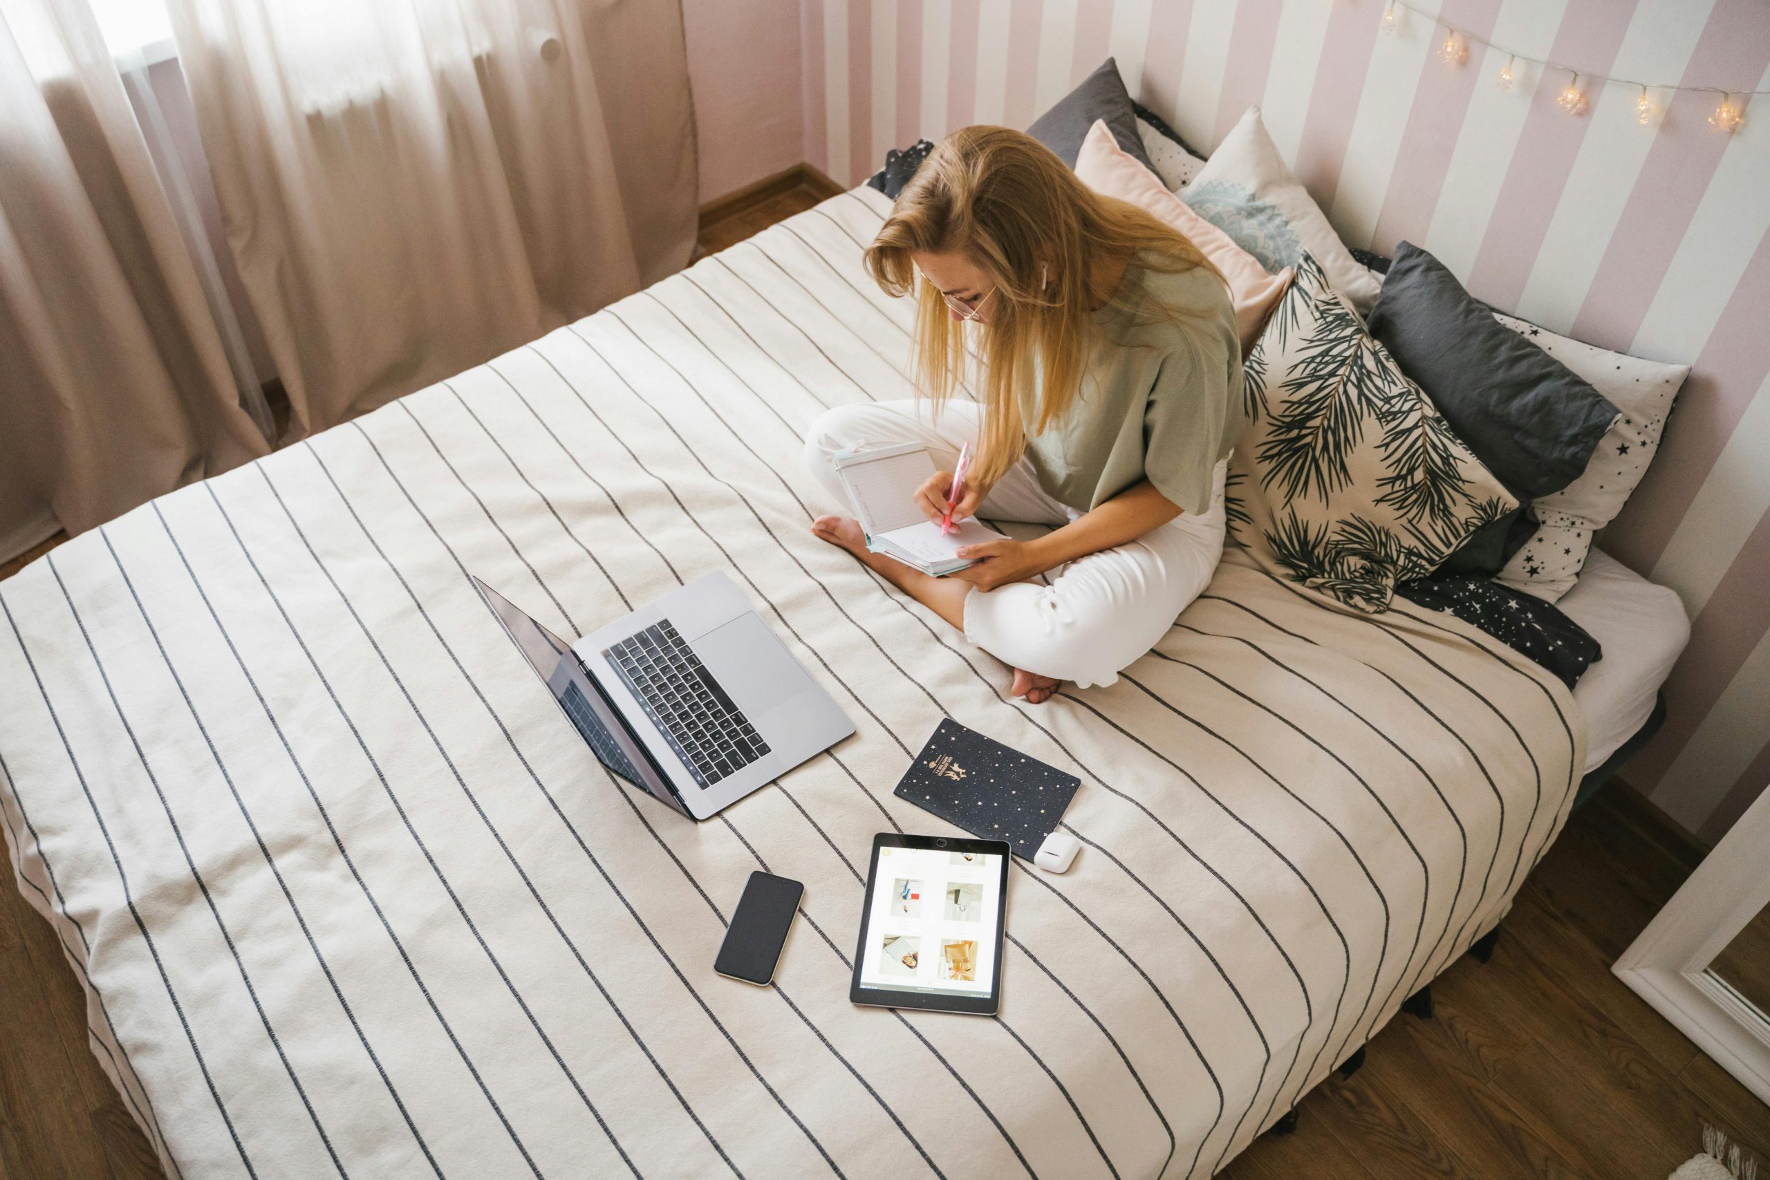
[[[995,1015],[1007,918],[1004,840],[873,837],[853,1003]]]

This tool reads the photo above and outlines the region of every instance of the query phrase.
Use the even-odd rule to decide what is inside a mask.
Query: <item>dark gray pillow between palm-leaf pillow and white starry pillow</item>
[[[1494,318],[1457,276],[1402,242],[1370,311],[1382,341],[1476,458],[1519,499],[1586,471],[1616,407],[1574,370]]]

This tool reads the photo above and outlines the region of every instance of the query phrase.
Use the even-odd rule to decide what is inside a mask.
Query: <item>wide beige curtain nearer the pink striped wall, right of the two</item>
[[[680,0],[170,0],[294,437],[680,269]]]

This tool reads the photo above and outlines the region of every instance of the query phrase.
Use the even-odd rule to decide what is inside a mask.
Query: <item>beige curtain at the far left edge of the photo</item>
[[[0,559],[266,449],[87,0],[0,0]]]

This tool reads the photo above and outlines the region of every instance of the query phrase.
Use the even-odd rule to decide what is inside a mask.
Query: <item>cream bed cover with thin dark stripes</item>
[[[170,1176],[1205,1176],[1490,929],[1566,690],[1230,554],[1044,706],[816,541],[802,433],[901,398],[835,196],[0,586],[0,812]],[[579,635],[727,570],[858,732],[694,824],[612,780],[473,571]],[[954,716],[1083,780],[1014,865],[1000,1019],[848,1003],[876,831]],[[713,975],[756,869],[777,987]]]

